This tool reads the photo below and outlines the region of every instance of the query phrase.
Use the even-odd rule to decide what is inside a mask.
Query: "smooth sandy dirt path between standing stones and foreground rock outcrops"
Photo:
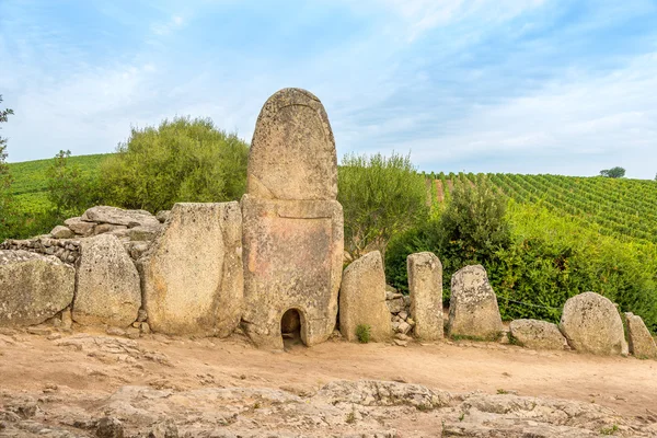
[[[450,392],[494,394],[503,390],[597,403],[625,416],[657,412],[654,360],[469,342],[396,347],[333,341],[272,353],[253,348],[241,336],[193,341],[159,335],[135,341],[148,351],[136,356],[120,351],[123,347],[94,347],[92,341],[66,345],[67,339],[0,335],[0,390],[13,393],[58,385],[110,393],[130,384],[176,390],[212,385],[312,391],[338,379],[377,379]]]

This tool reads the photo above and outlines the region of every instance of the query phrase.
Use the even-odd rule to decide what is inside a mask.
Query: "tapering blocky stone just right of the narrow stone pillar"
[[[503,331],[497,297],[481,265],[465,266],[451,280],[449,336],[497,338]]]

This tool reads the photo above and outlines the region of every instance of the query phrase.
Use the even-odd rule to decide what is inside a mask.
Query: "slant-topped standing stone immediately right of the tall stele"
[[[367,324],[376,342],[392,337],[390,312],[385,306],[385,275],[378,251],[367,253],[343,273],[339,293],[339,331],[356,341],[356,327]]]

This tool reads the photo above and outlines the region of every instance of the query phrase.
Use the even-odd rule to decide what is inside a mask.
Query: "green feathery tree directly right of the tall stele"
[[[390,239],[427,217],[425,178],[411,157],[346,154],[338,170],[337,199],[345,215],[345,250],[358,257],[385,253]]]

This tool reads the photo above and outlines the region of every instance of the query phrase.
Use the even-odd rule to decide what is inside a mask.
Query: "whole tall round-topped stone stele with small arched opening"
[[[242,321],[257,346],[283,347],[288,311],[298,312],[306,345],[333,332],[344,249],[336,198],[337,158],[324,106],[308,91],[278,91],[258,116],[242,198]]]

